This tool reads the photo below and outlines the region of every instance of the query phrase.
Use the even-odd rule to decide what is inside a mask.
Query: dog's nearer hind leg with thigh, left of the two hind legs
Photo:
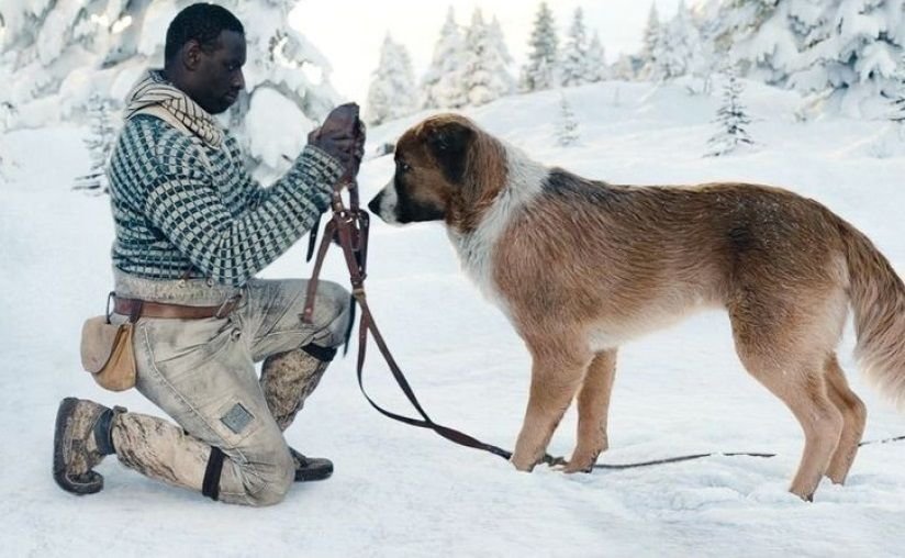
[[[808,344],[811,332],[796,327],[807,320],[800,321],[803,316],[795,315],[795,309],[780,304],[757,305],[769,314],[767,320],[752,320],[750,312],[730,310],[729,314],[745,368],[789,406],[804,431],[804,454],[789,490],[811,501],[842,433],[842,414],[827,394],[824,364],[828,351]]]

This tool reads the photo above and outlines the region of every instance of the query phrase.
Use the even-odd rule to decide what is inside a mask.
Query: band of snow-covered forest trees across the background
[[[9,86],[0,90],[0,131],[90,123],[101,134],[92,140],[92,152],[100,149],[92,157],[102,165],[111,144],[104,135],[115,132],[107,112],[121,104],[146,67],[161,64],[165,26],[189,3],[5,0],[0,7],[0,80]],[[295,0],[221,3],[247,22],[249,41],[247,91],[226,119],[257,174],[273,176],[301,147],[303,138],[293,132],[310,129],[338,102],[332,68],[315,45],[287,24]],[[589,29],[581,8],[555,13],[540,2],[526,59],[516,65],[507,47],[515,37],[505,36],[494,15],[479,8],[462,24],[450,7],[429,67],[420,77],[406,46],[388,30],[365,114],[370,124],[381,124],[423,110],[478,107],[506,96],[608,79],[682,79],[690,93],[711,94],[714,76],[731,75],[733,92],[724,97],[735,104],[716,115],[733,136],[731,145],[738,143],[734,134],[745,134],[741,123],[747,120],[739,101],[742,86],[735,78],[800,92],[803,119],[831,111],[901,122],[904,13],[905,0],[703,0],[680,2],[663,19],[653,2],[641,48],[607,60],[606,37]],[[284,131],[279,134],[284,140],[261,140],[272,131]],[[744,137],[741,143],[750,143]],[[102,174],[86,178],[89,188],[102,186]]]

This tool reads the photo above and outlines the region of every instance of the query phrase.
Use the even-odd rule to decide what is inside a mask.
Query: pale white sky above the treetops
[[[548,0],[560,31],[560,43],[574,9],[584,10],[588,29],[600,33],[608,62],[622,52],[640,48],[641,33],[652,0]],[[660,18],[670,18],[679,0],[656,0]],[[434,44],[452,5],[456,21],[468,24],[480,7],[484,21],[500,20],[506,45],[521,66],[539,1],[516,0],[302,0],[290,14],[291,23],[333,65],[331,82],[345,100],[367,102],[371,72],[377,69],[380,45],[389,32],[412,55],[415,79],[431,63]]]

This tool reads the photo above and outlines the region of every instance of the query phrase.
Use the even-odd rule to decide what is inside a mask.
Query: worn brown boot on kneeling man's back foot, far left
[[[74,494],[103,488],[103,477],[92,469],[114,453],[111,427],[123,412],[76,398],[60,401],[54,433],[54,480],[59,488]]]

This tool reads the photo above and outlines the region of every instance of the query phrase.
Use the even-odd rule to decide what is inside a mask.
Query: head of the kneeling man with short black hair
[[[245,88],[245,29],[223,7],[197,3],[167,29],[164,72],[211,114],[228,109]]]

